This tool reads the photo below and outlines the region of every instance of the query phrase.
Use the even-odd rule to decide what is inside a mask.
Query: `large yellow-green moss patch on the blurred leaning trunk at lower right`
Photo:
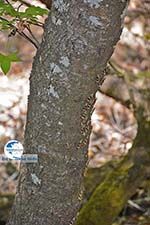
[[[81,209],[76,225],[107,225],[113,222],[127,201],[126,180],[132,165],[126,161],[106,177]]]

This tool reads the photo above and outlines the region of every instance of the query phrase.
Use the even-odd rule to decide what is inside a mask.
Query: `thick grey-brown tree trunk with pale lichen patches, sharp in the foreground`
[[[39,162],[21,168],[8,225],[74,220],[96,77],[119,40],[125,6],[124,0],[54,1],[30,77],[24,146]]]

